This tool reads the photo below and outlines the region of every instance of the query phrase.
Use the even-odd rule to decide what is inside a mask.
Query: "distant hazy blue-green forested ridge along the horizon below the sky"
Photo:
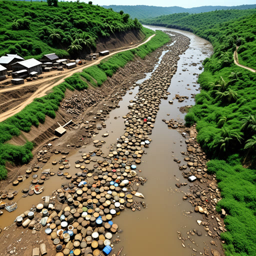
[[[183,8],[178,6],[161,7],[161,6],[148,6],[148,5],[102,5],[104,8],[112,8],[114,11],[123,10],[128,13],[132,18],[149,18],[157,17],[160,15],[167,15],[172,13],[200,13],[212,10],[226,10],[226,9],[252,9],[256,8],[256,4],[245,4],[238,6],[200,6],[193,8]]]

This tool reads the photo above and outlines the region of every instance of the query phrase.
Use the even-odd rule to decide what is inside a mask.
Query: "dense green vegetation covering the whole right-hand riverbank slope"
[[[203,62],[201,92],[185,120],[187,125],[197,124],[197,139],[213,159],[208,171],[216,173],[223,197],[217,209],[228,214],[227,232],[221,234],[228,256],[252,256],[256,251],[256,74],[233,63],[233,51],[239,46],[239,61],[256,66],[256,15],[239,17],[247,12],[256,10],[213,11],[179,19],[174,14],[175,22],[165,20],[165,25],[189,29],[214,47],[214,54]]]

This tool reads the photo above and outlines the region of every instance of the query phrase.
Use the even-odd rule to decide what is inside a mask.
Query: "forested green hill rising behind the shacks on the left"
[[[140,28],[128,14],[84,2],[0,1],[0,56],[18,53],[40,58],[55,52],[74,54],[95,46],[98,36]]]

